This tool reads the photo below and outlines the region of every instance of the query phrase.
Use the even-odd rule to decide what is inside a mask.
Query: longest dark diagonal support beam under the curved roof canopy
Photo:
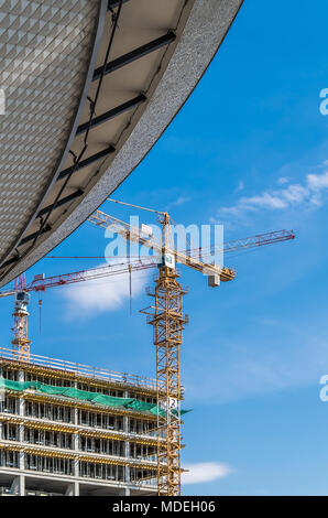
[[[157,51],[162,46],[168,45],[170,43],[174,42],[175,39],[176,35],[174,34],[174,32],[168,31],[166,34],[164,34],[164,36],[157,37],[156,40],[153,40],[150,43],[146,43],[145,45],[134,48],[134,51],[128,52],[128,54],[123,54],[122,56],[109,62],[106,65],[105,75],[118,71],[119,68],[129,65],[129,63],[140,60],[140,57],[146,56],[147,54]],[[102,66],[99,66],[99,68],[96,68],[92,80],[99,79],[101,73]]]

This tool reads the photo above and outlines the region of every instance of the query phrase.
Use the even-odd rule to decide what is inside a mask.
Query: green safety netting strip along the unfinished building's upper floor
[[[65,396],[66,398],[80,399],[83,401],[92,401],[97,404],[103,404],[106,407],[123,407],[142,412],[150,412],[154,416],[157,414],[157,406],[153,403],[146,403],[139,401],[134,398],[117,398],[114,396],[106,396],[99,392],[89,392],[87,390],[78,390],[74,387],[55,387],[53,385],[45,385],[40,381],[13,381],[11,379],[4,379],[0,377],[0,388],[7,390],[17,390],[23,392],[24,390],[35,390],[39,393],[47,393],[50,396]],[[187,413],[189,410],[182,410],[181,414]],[[160,410],[160,414],[164,414],[164,410]],[[176,410],[173,410],[176,414]]]

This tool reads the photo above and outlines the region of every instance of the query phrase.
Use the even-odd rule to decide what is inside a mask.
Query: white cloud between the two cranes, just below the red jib
[[[108,268],[108,265],[106,267]],[[89,272],[91,276],[91,270]],[[132,298],[144,290],[146,282],[145,271],[132,272]],[[80,315],[81,312],[90,314],[114,311],[130,298],[129,273],[72,284],[62,290],[61,295],[66,299],[72,317]]]

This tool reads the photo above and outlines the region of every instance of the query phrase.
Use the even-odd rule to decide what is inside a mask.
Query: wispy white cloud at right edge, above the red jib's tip
[[[307,174],[302,183],[287,185],[288,180],[285,177],[280,179],[278,183],[286,186],[264,191],[253,196],[242,196],[236,205],[222,207],[220,214],[240,216],[247,212],[282,211],[299,205],[317,208],[324,204],[328,190],[328,171],[321,174]]]

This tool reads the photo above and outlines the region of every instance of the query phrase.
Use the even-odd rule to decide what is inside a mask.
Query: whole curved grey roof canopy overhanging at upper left
[[[0,1],[0,284],[140,163],[242,0]]]

